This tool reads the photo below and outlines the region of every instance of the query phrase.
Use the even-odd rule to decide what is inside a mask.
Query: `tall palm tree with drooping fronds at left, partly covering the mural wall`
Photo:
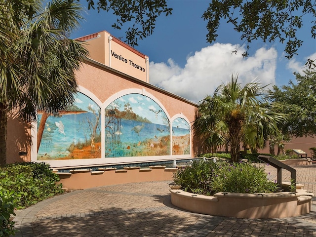
[[[44,2],[0,0],[0,165],[8,113],[17,111],[23,121],[36,120],[37,109],[58,115],[74,101],[74,71],[87,55],[66,37],[79,24],[79,5],[54,0],[42,9]]]

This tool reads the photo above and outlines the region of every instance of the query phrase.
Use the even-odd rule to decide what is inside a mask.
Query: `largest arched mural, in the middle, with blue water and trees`
[[[170,121],[141,94],[127,94],[105,109],[105,157],[170,155]]]

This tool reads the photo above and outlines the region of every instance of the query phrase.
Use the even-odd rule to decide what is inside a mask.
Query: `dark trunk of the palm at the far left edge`
[[[0,103],[0,166],[6,164],[6,132],[8,124],[7,106]]]

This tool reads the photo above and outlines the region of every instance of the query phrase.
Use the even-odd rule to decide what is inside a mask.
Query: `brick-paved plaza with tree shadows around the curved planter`
[[[316,165],[292,166],[297,182],[316,194]],[[268,178],[276,169],[266,166]],[[290,173],[282,170],[283,181]],[[237,219],[181,210],[171,204],[172,181],[121,184],[73,191],[17,211],[17,237],[311,237],[309,214],[280,219]],[[238,205],[238,203],[236,203]]]

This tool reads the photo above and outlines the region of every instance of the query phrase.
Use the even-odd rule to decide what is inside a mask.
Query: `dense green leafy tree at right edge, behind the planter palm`
[[[280,112],[288,118],[282,124],[283,134],[296,137],[316,134],[316,72],[305,71],[305,75],[294,73],[297,83],[292,80],[281,88],[276,85],[268,98],[282,105]]]

